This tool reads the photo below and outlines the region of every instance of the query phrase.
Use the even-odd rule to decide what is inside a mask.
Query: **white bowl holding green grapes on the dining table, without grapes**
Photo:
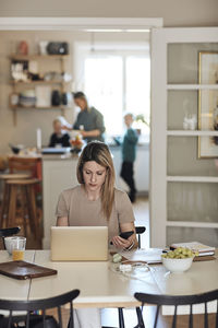
[[[170,272],[173,273],[182,273],[187,271],[192,266],[193,257],[187,258],[164,258],[162,257],[162,265],[168,269]]]

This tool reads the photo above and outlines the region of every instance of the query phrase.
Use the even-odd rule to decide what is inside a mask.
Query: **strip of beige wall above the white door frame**
[[[0,16],[164,17],[165,26],[218,24],[217,0],[1,0]]]

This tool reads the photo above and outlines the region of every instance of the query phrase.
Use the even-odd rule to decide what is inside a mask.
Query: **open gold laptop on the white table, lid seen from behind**
[[[52,226],[52,261],[108,260],[107,226]]]

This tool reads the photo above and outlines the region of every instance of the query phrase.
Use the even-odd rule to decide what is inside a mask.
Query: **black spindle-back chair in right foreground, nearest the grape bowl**
[[[193,328],[193,305],[195,304],[204,304],[205,313],[204,313],[204,327],[209,328],[208,326],[208,313],[207,313],[207,303],[210,301],[217,301],[217,314],[216,314],[216,326],[215,328],[218,328],[218,290],[203,293],[203,294],[196,294],[196,295],[153,295],[153,294],[144,294],[144,293],[135,293],[135,298],[140,302],[142,302],[142,307],[145,303],[157,305],[156,309],[156,316],[155,316],[155,323],[154,328],[157,327],[158,323],[158,316],[161,305],[172,305],[174,306],[174,315],[172,318],[172,328],[177,328],[177,311],[179,305],[190,305],[190,316],[189,316],[189,328]],[[143,316],[142,312],[140,314],[138,318],[138,326],[137,327],[144,327],[141,326],[144,325],[143,323]]]

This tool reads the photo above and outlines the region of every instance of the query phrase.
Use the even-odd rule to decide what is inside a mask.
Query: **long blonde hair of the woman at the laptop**
[[[114,201],[116,174],[108,145],[100,141],[93,141],[84,148],[76,168],[77,180],[80,184],[84,184],[83,166],[86,162],[90,161],[95,161],[107,169],[106,179],[101,188],[101,210],[107,220],[109,220]]]

